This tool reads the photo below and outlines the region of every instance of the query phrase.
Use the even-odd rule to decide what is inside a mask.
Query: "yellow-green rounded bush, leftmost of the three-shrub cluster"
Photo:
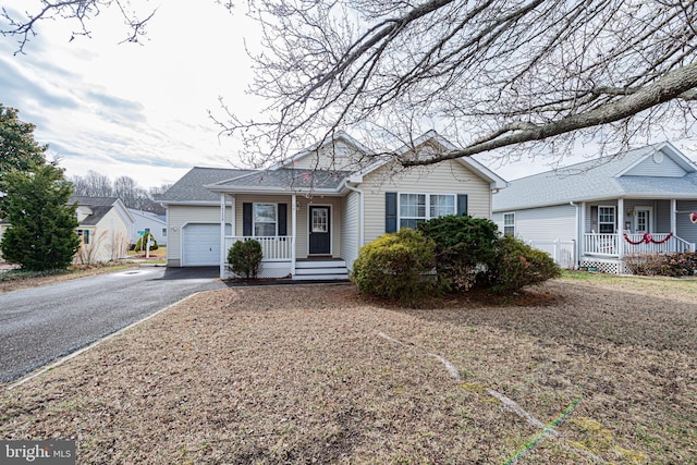
[[[360,248],[352,280],[362,294],[414,303],[436,287],[429,279],[433,249],[431,240],[409,228],[383,234]]]

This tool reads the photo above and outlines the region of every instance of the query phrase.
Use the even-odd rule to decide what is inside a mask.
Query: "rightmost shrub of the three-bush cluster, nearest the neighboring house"
[[[547,253],[510,234],[499,240],[498,259],[491,271],[491,291],[500,294],[561,276],[561,269]]]

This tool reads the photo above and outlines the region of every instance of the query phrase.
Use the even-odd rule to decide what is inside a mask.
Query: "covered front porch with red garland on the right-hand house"
[[[623,258],[627,255],[695,250],[695,243],[681,236],[681,233],[694,233],[689,228],[695,227],[688,225],[688,210],[681,211],[680,207],[676,199],[617,198],[584,203],[580,267],[623,273],[626,271]]]

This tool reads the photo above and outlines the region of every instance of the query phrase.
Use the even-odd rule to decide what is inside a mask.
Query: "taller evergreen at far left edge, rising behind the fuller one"
[[[23,123],[17,110],[0,103],[0,178],[9,171],[29,171],[46,162],[47,145],[34,139],[34,124]]]

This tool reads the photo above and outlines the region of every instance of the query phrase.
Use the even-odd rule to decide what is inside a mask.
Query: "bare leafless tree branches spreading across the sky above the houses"
[[[338,129],[393,147],[436,127],[464,147],[400,160],[413,166],[693,123],[693,2],[266,0],[250,14],[267,38],[252,91],[272,118],[217,122],[256,164]]]

